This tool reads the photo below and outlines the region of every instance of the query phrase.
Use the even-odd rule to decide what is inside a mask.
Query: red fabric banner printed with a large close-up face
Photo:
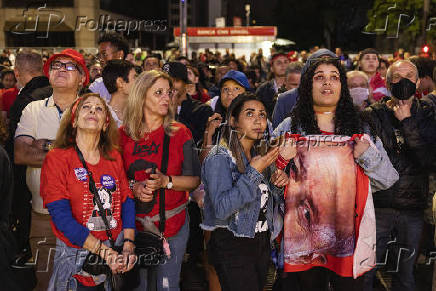
[[[353,276],[370,191],[368,177],[354,161],[356,136],[291,136],[297,154],[285,191],[285,271],[324,266]]]

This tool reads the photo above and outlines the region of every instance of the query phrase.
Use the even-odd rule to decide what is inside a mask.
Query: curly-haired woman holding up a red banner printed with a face
[[[301,290],[362,290],[375,264],[372,192],[398,180],[380,139],[360,119],[337,59],[314,62],[302,77],[277,166],[290,164],[285,191],[284,272]],[[281,170],[279,170],[281,171]]]

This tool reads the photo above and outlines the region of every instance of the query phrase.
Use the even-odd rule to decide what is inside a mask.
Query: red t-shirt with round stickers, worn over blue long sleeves
[[[93,175],[115,240],[123,228],[122,203],[128,196],[132,199],[133,196],[120,153],[113,151],[111,156],[115,158],[114,161],[106,160],[101,156],[96,165],[87,163],[87,167]],[[47,154],[41,171],[41,197],[44,200],[44,207],[57,200],[69,200],[73,218],[88,228],[99,240],[108,239],[103,219],[98,213],[98,206],[93,201],[94,195],[89,191],[88,174],[74,148],[53,149]],[[70,247],[79,248],[56,228],[53,221],[51,226],[56,237]]]

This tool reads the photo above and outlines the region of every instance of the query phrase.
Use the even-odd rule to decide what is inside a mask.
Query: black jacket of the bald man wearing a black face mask
[[[387,107],[388,100],[385,98],[363,112],[364,120],[382,140],[392,165],[400,175],[391,188],[374,194],[374,206],[400,210],[424,209],[434,148],[424,141],[419,128],[434,118],[434,110],[428,103],[414,100],[412,116],[400,122]]]

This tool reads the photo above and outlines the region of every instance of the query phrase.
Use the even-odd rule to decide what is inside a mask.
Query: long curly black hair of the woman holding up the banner
[[[312,84],[313,76],[318,66],[330,64],[339,70],[341,81],[341,96],[336,105],[335,113],[335,134],[351,136],[356,133],[363,133],[363,125],[358,110],[353,105],[353,99],[347,86],[347,76],[344,68],[337,59],[323,58],[314,62],[305,74],[301,76],[301,83],[298,88],[298,100],[291,112],[292,132],[297,133],[299,129],[305,134],[321,134],[318,127],[315,111],[313,110]]]

